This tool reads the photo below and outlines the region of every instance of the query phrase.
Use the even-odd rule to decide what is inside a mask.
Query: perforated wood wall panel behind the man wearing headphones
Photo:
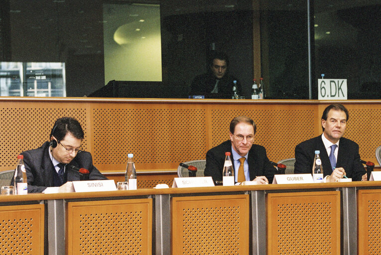
[[[13,106],[12,106],[13,105]],[[0,169],[14,169],[17,155],[38,148],[49,139],[54,122],[64,116],[76,118],[85,132],[83,147],[87,148],[86,110],[62,104],[57,108],[47,103],[12,104],[0,108]]]

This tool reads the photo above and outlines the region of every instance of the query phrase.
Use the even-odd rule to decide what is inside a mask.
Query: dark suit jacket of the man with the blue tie
[[[303,141],[295,147],[295,173],[311,173],[315,156],[315,150],[320,150],[320,158],[323,166],[323,174],[331,175],[332,167],[329,155],[324,147],[321,135]],[[343,167],[346,176],[353,181],[361,181],[361,177],[367,172],[360,162],[359,145],[347,138],[341,137],[337,154],[336,167]]]

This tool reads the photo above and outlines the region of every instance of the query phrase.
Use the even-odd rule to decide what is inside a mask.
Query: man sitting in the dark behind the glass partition
[[[241,84],[229,74],[229,59],[225,53],[213,52],[208,63],[208,72],[193,79],[189,95],[232,99],[233,81],[237,81],[237,94],[241,95]]]

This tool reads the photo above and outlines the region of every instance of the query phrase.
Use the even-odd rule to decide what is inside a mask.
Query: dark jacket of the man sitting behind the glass
[[[233,81],[237,81],[237,94],[242,96],[241,83],[236,77],[226,73],[218,82],[218,93],[211,93],[216,85],[216,77],[212,72],[196,76],[190,87],[190,96],[203,95],[205,98],[226,98],[232,99]]]

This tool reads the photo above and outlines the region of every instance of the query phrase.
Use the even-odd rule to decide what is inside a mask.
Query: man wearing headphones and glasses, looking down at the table
[[[93,165],[91,154],[82,150],[84,136],[77,120],[63,117],[55,122],[49,141],[37,149],[21,153],[28,193],[43,192],[47,187],[59,187],[67,181],[79,181],[81,174],[76,170],[79,168],[89,171],[89,180],[107,179]]]

